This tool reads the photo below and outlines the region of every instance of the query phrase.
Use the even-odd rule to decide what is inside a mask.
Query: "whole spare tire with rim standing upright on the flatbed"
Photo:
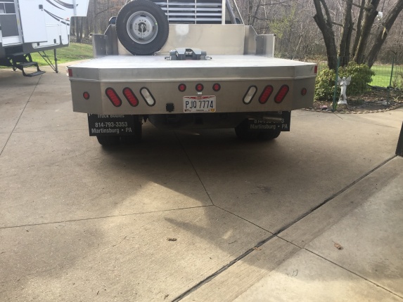
[[[116,32],[120,43],[133,55],[152,55],[165,45],[169,23],[157,4],[134,0],[117,14]]]

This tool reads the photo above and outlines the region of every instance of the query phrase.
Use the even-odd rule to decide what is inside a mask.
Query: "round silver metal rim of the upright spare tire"
[[[157,20],[146,11],[137,11],[127,20],[127,34],[139,44],[148,44],[158,34]]]

